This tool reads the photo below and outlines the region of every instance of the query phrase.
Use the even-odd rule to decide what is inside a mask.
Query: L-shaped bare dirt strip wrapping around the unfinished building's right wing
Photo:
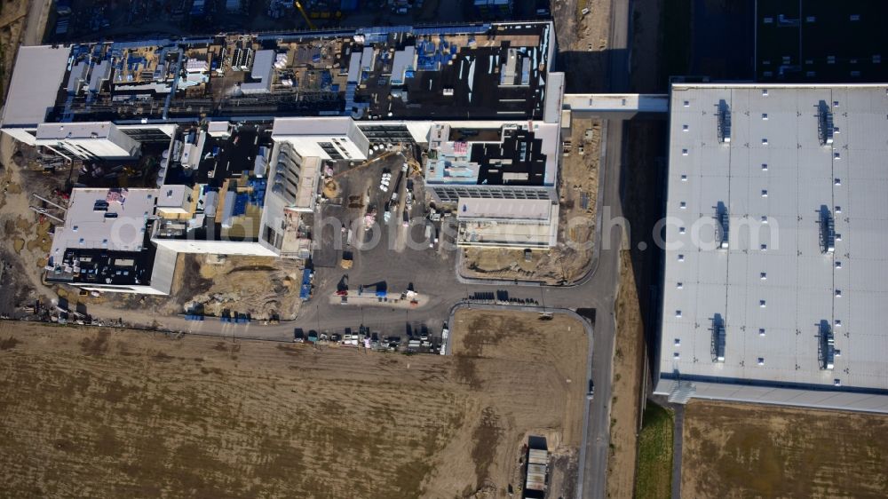
[[[460,273],[480,279],[549,284],[581,279],[592,265],[600,160],[601,121],[574,120],[571,150],[561,162],[558,246],[534,250],[529,260],[523,249],[464,249]]]

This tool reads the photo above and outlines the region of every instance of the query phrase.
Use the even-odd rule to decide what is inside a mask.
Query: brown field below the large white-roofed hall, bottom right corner
[[[885,497],[888,416],[692,400],[682,495]]]

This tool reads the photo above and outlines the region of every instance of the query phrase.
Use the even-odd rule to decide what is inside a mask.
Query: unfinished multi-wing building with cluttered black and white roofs
[[[168,253],[311,257],[326,162],[398,144],[429,151],[461,245],[548,248],[554,54],[551,22],[22,47],[0,130],[83,163],[46,279],[85,289],[168,293]],[[115,247],[121,226],[138,244]]]

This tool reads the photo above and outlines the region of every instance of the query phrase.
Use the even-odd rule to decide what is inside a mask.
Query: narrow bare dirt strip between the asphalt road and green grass
[[[630,497],[635,487],[638,394],[641,392],[644,329],[628,251],[622,251],[620,257],[620,291],[616,298],[614,345],[614,399],[611,400],[611,455],[607,461],[607,495]]]

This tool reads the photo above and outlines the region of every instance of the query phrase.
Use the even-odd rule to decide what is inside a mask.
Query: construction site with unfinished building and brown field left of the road
[[[12,489],[576,495],[583,323],[469,311],[440,329],[461,295],[546,301],[459,289],[455,271],[589,273],[603,127],[560,123],[555,51],[550,21],[23,48],[10,94],[33,99],[4,108],[0,286],[15,293],[0,312],[54,325],[0,326],[0,360],[26,391],[57,380],[35,407],[70,424],[26,431],[35,407],[12,409]],[[97,362],[102,379],[71,376]],[[158,421],[181,432],[147,445]],[[115,478],[81,490],[23,460],[24,442]]]

